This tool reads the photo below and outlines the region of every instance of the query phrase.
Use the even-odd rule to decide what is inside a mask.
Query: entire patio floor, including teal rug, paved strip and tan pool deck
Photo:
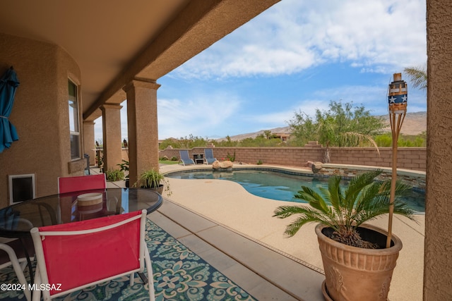
[[[194,167],[199,166],[165,165],[160,171]],[[250,195],[227,180],[169,179],[169,183],[172,195],[148,215],[157,300],[323,300],[323,266],[314,225],[287,239],[283,237],[287,221],[271,217],[278,201]],[[124,181],[107,183],[111,188],[123,185]],[[418,221],[419,225],[396,218],[396,235],[404,246],[390,300],[422,300],[424,216]],[[374,223],[386,226],[384,219]],[[11,269],[0,275],[2,283],[17,283]],[[64,300],[136,300],[145,295],[138,277],[133,288],[127,279],[112,283]],[[0,300],[25,297],[0,292]]]

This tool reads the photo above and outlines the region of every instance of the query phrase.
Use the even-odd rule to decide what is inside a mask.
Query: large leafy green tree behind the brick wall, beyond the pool
[[[378,152],[372,137],[384,128],[381,118],[371,116],[364,106],[354,107],[352,102],[331,101],[329,107],[328,111],[316,109],[314,118],[302,111],[295,112],[289,126],[300,144],[319,141],[326,147],[326,163],[329,162],[329,147],[358,147],[367,143]]]

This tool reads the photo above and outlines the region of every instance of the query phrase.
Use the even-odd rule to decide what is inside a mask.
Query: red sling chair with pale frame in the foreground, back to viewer
[[[35,244],[33,300],[71,293],[113,278],[148,271],[150,300],[155,300],[153,271],[145,243],[146,211],[32,228]],[[61,285],[60,285],[61,284]]]

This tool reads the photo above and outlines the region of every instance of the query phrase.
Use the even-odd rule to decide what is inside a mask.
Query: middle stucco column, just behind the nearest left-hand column
[[[102,110],[102,133],[104,145],[104,172],[119,169],[121,164],[121,108],[119,104],[104,104]]]

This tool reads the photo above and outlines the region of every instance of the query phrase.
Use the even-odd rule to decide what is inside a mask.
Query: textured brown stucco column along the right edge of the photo
[[[452,1],[427,0],[424,300],[452,300],[451,32]]]

